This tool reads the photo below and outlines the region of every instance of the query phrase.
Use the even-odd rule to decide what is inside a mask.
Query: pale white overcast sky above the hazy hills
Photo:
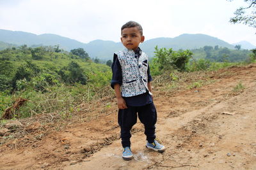
[[[120,27],[139,22],[146,40],[207,34],[256,46],[256,29],[230,24],[243,0],[0,0],[0,29],[58,34],[88,43],[120,41]]]

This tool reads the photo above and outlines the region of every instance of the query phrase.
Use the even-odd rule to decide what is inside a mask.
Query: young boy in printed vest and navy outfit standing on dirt
[[[118,105],[118,124],[124,160],[132,159],[131,128],[137,122],[137,113],[145,127],[146,147],[157,152],[164,152],[164,146],[156,141],[156,108],[153,103],[148,57],[139,45],[145,37],[140,24],[127,22],[121,28],[121,41],[125,49],[114,53],[111,87],[115,89]]]

